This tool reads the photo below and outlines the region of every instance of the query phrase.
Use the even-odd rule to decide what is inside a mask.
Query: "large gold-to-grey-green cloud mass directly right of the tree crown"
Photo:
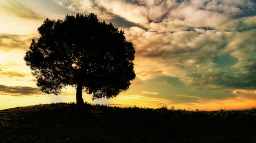
[[[254,17],[239,20],[251,18]],[[195,27],[172,33],[131,27],[125,32],[136,48],[135,71],[140,79],[167,75],[179,77],[186,85],[256,88],[253,64],[256,29],[226,32]],[[237,63],[228,62],[230,64],[218,68],[220,63],[214,63],[218,56],[232,57]]]

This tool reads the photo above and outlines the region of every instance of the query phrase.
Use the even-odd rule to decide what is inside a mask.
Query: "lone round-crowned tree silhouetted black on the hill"
[[[124,32],[97,15],[66,15],[64,20],[44,20],[41,37],[32,39],[24,60],[38,79],[37,86],[58,95],[67,85],[76,87],[78,107],[82,90],[95,98],[116,97],[135,78],[135,49]]]

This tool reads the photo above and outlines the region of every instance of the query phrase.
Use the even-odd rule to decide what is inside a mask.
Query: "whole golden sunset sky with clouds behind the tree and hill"
[[[24,62],[44,19],[97,14],[135,47],[136,77],[118,97],[91,104],[186,110],[256,107],[254,0],[1,0],[0,110],[75,102],[75,88],[48,95]]]

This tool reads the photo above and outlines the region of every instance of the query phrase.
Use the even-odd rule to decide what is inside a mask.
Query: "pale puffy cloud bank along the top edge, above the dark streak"
[[[239,17],[255,15],[255,2],[245,1],[132,1],[132,0],[55,0],[77,13],[114,15],[147,29],[158,24],[168,29],[181,27],[218,27]],[[150,25],[151,24],[151,25]]]

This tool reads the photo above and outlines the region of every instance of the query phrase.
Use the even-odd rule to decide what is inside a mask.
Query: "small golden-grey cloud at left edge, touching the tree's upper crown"
[[[29,49],[32,39],[38,39],[38,35],[11,35],[0,33],[0,50]]]

